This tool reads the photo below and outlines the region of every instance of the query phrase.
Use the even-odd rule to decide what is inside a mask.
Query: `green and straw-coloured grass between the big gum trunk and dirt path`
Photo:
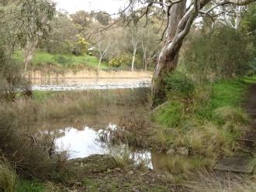
[[[195,84],[195,92],[189,98],[182,92],[170,91],[168,103],[153,114],[154,122],[161,125],[160,129],[157,128],[161,134],[155,135],[155,140],[163,142],[161,145],[167,149],[175,149],[175,152],[186,147],[190,149],[189,160],[193,157],[200,159],[194,164],[189,163],[192,167],[183,170],[195,170],[199,167],[197,164],[211,167],[220,156],[230,155],[237,149],[241,127],[249,122],[242,103],[252,83],[256,83],[255,76]],[[178,160],[180,166],[186,166],[182,161],[183,158]],[[178,173],[172,169],[178,167],[175,163],[170,162],[171,173]]]

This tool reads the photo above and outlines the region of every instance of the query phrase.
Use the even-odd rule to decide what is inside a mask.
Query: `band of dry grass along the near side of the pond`
[[[109,105],[112,108],[137,105],[147,101],[147,93],[146,89],[38,92],[34,98],[18,98],[5,103],[5,108],[21,127],[27,128],[36,121],[102,113],[109,111]]]

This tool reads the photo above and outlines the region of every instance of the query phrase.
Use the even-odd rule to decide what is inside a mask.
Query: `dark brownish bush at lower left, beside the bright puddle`
[[[24,132],[9,112],[0,111],[0,151],[23,177],[47,180],[56,175],[54,138]]]

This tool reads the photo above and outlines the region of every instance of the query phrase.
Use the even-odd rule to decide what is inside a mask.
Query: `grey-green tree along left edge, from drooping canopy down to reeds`
[[[39,34],[46,39],[50,32],[47,20],[52,19],[54,12],[54,3],[46,0],[0,2],[0,94],[14,98],[17,87],[26,89],[27,82],[19,64],[12,60],[12,53],[35,41]]]

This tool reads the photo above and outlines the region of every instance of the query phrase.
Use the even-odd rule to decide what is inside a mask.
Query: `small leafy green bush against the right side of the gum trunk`
[[[182,72],[167,74],[164,77],[164,85],[166,93],[183,94],[185,97],[190,97],[195,91],[195,86],[192,80]]]

